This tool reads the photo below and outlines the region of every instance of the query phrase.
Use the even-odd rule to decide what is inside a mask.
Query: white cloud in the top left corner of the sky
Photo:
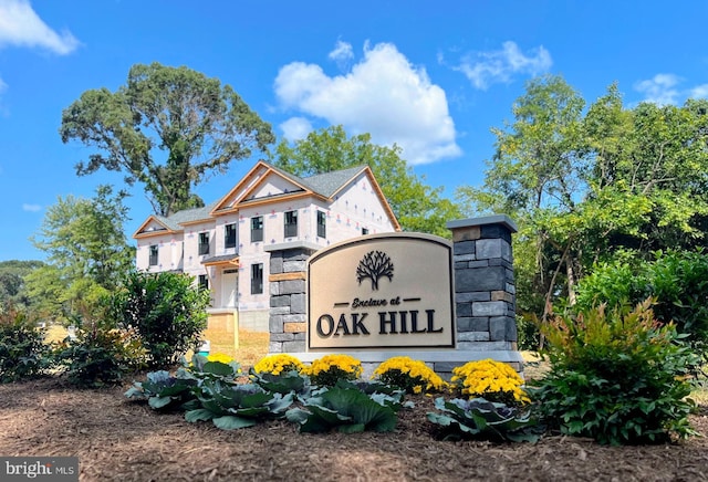
[[[39,46],[65,55],[79,46],[79,41],[69,31],[59,34],[49,28],[29,0],[1,0],[0,48],[6,45]]]

